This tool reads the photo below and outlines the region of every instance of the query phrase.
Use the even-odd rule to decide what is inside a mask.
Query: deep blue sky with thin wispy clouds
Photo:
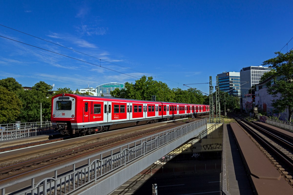
[[[88,84],[134,83],[145,73],[170,88],[188,89],[183,84],[207,83],[209,76],[215,81],[223,71],[239,72],[274,57],[293,37],[292,5],[2,0],[1,25],[96,58],[0,26],[3,37],[88,62],[0,37],[0,79],[13,77],[25,87],[44,81],[55,89],[75,90]],[[292,47],[293,40],[288,50]],[[189,86],[209,92],[208,84]]]

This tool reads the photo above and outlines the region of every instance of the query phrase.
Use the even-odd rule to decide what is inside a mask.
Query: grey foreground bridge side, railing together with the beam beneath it
[[[176,144],[178,146],[185,141],[188,141],[188,139],[199,134],[203,130],[206,131],[206,125],[206,118],[190,122],[164,132],[153,134],[139,140],[134,140],[131,143],[116,146],[103,152],[93,154],[87,158],[77,160],[74,163],[68,163],[57,168],[51,168],[38,174],[13,181],[8,184],[3,184],[0,186],[1,195],[61,195],[72,192],[77,193],[77,191],[91,186],[91,184],[102,185],[105,177],[110,178],[110,182],[108,182],[111,183],[111,186],[108,188],[100,187],[98,194],[109,194],[111,191],[122,185],[125,180],[127,181],[137,174],[139,172],[139,168],[144,168],[142,167],[142,164],[149,166],[154,163],[157,159],[159,159],[158,156],[161,157],[176,147],[170,146],[171,144]],[[152,153],[156,153],[156,155],[151,156]],[[148,158],[146,158],[147,155]],[[138,161],[139,163],[137,163]],[[132,166],[132,164],[134,165]],[[140,165],[140,167],[138,167],[138,165]],[[133,167],[132,170],[130,170],[131,167]],[[123,174],[121,173],[121,175],[123,175],[122,180],[117,180],[117,177],[111,177],[111,175],[119,175],[119,170],[125,168],[128,168],[128,170],[123,172]],[[133,175],[130,172],[136,173]],[[111,180],[111,178],[115,179]],[[25,188],[19,189],[19,186],[23,186],[23,184],[21,184],[23,182],[25,183]],[[13,191],[15,189],[17,189],[17,192]],[[88,191],[82,192],[87,193]],[[79,193],[81,193],[81,191],[79,191]]]

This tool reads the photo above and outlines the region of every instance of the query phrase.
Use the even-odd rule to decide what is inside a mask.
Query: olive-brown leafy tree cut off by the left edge
[[[0,123],[14,123],[20,114],[22,103],[14,92],[0,86]]]

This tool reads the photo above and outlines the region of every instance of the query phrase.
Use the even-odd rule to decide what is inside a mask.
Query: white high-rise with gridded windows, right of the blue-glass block
[[[263,66],[249,66],[242,68],[240,70],[241,95],[248,94],[248,90],[251,89],[253,85],[258,84],[260,77],[270,70],[271,68]]]

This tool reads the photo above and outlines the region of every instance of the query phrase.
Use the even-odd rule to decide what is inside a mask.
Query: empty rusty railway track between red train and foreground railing
[[[189,122],[194,120],[195,119],[190,120]],[[15,178],[24,177],[25,175],[36,171],[51,168],[52,166],[54,167],[57,164],[60,165],[62,163],[74,161],[75,159],[81,158],[85,155],[90,155],[100,150],[147,136],[154,132],[182,125],[183,123],[186,122],[163,126],[162,124],[155,123],[148,125],[149,129],[147,130],[145,130],[146,127],[142,126],[132,127],[123,130],[95,134],[92,136],[85,136],[75,140],[64,140],[57,142],[58,144],[53,144],[54,146],[52,147],[46,146],[39,148],[38,146],[39,149],[31,147],[31,150],[26,150],[26,152],[11,151],[9,152],[11,155],[6,155],[5,157],[1,155],[0,157],[0,163],[2,164],[2,167],[0,168],[0,184]],[[59,143],[62,143],[61,146]]]

